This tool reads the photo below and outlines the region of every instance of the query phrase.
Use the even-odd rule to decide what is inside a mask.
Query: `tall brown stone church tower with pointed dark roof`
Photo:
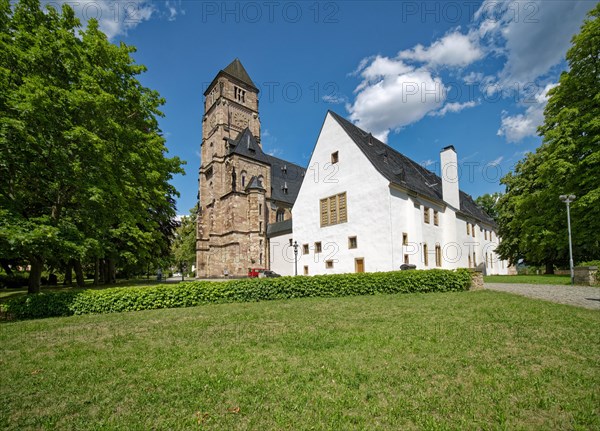
[[[244,276],[249,268],[268,267],[271,166],[260,142],[258,92],[236,58],[204,93],[196,247],[200,278]]]

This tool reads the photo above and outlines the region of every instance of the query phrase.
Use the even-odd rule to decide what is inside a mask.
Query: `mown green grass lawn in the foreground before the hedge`
[[[0,428],[600,429],[600,313],[492,291],[0,324]]]

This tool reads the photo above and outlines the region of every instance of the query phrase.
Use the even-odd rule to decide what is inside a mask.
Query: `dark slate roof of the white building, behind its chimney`
[[[387,180],[433,201],[444,202],[442,179],[435,173],[384,144],[335,112],[329,111],[329,113],[362,150],[375,169]],[[480,222],[495,226],[494,220],[477,206],[471,196],[463,191],[460,191],[460,211]]]

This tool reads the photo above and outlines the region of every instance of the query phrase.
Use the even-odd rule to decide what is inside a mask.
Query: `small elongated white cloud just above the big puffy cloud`
[[[464,67],[483,58],[476,37],[459,31],[449,33],[429,47],[419,44],[412,49],[400,51],[398,58],[425,63],[430,66]]]

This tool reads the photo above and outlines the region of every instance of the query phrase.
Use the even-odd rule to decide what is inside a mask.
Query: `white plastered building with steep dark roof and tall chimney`
[[[442,178],[329,111],[292,208],[269,226],[270,267],[299,275],[485,265],[499,260],[494,221],[459,190],[454,147],[440,154]]]

